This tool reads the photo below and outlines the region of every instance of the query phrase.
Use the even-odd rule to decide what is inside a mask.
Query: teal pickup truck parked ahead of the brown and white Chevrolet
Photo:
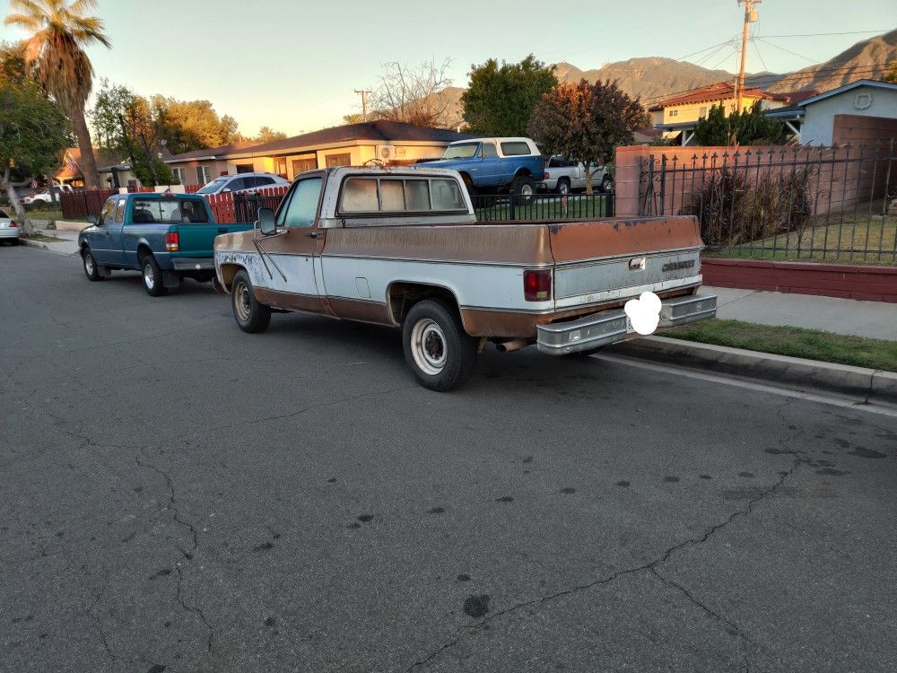
[[[152,297],[184,278],[211,281],[215,237],[253,228],[252,223],[216,223],[205,198],[170,193],[116,194],[91,223],[78,236],[84,275],[100,281],[112,271],[140,271]]]

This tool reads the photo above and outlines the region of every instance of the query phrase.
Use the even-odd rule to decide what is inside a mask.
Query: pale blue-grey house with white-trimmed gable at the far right
[[[766,115],[785,122],[800,144],[890,141],[897,139],[897,84],[857,80]]]

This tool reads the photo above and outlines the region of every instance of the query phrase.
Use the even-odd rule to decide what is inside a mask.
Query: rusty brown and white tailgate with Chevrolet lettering
[[[701,283],[696,217],[554,223],[548,229],[557,309]]]

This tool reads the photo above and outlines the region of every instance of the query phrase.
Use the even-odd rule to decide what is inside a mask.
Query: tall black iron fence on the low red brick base
[[[892,140],[651,156],[639,211],[697,215],[712,255],[893,265],[895,150]]]

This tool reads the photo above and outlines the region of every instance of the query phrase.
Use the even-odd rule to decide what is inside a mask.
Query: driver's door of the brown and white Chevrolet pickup
[[[318,229],[323,185],[323,173],[296,180],[277,213],[277,228],[285,232],[258,241],[267,253],[264,257],[269,267],[261,265],[252,278],[259,302],[312,313],[327,310],[315,273],[315,255],[324,244],[325,230]],[[259,273],[261,278],[256,277]]]

